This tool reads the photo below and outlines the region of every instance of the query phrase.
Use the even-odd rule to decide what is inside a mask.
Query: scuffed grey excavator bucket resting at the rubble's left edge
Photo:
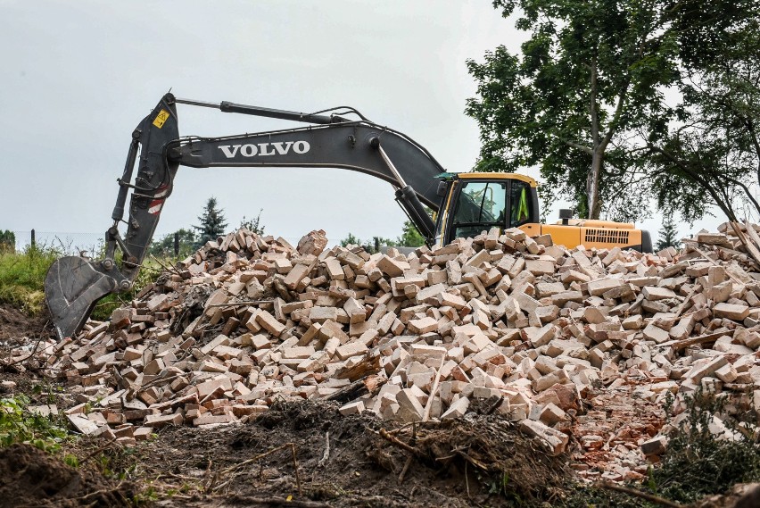
[[[84,258],[66,256],[54,262],[45,275],[45,300],[58,337],[74,336],[97,301],[116,287],[115,279]]]

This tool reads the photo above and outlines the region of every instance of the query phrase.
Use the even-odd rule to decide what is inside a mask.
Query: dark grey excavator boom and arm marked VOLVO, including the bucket
[[[179,137],[178,103],[317,125],[229,137]],[[103,296],[131,287],[180,165],[331,167],[363,172],[395,187],[396,201],[430,241],[434,222],[424,205],[438,211],[436,177],[444,172],[441,165],[409,137],[376,125],[355,110],[341,109],[357,115],[359,120],[349,121],[338,114],[287,112],[176,99],[171,94],[163,96],[133,132],[124,173],[118,180],[120,190],[112,212],[113,224],[105,236],[105,259],[63,257],[54,262],[45,277],[45,299],[59,337],[76,334]],[[135,164],[137,174],[132,183]],[[132,193],[125,210],[129,189]],[[127,232],[122,238],[119,224],[124,221],[125,211],[128,211]],[[116,262],[117,247],[121,251],[120,263]]]

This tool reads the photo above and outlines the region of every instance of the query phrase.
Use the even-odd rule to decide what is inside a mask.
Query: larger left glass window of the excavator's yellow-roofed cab
[[[464,182],[454,213],[453,237],[475,237],[507,220],[507,185],[501,182]]]

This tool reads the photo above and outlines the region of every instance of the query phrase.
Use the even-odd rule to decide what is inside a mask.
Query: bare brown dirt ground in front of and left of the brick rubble
[[[52,333],[45,317],[0,306],[0,357]],[[77,404],[37,367],[0,367],[0,380],[13,381],[12,391],[34,404]],[[13,445],[0,448],[0,508],[563,504],[573,495],[568,457],[546,454],[513,423],[487,414],[491,405],[458,421],[400,426],[342,416],[339,403],[283,402],[245,425],[165,428],[135,448],[87,437],[53,455]],[[78,457],[76,469],[64,454]],[[617,505],[614,496],[594,501]]]

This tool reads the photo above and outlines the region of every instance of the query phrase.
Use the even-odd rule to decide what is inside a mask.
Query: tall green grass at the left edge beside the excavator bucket
[[[20,254],[0,252],[0,302],[35,315],[45,305],[45,274],[58,253],[27,246]]]

